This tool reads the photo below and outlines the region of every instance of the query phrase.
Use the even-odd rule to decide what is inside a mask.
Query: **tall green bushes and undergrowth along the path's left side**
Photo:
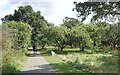
[[[31,41],[31,29],[22,22],[2,25],[2,73],[16,73],[22,69]]]

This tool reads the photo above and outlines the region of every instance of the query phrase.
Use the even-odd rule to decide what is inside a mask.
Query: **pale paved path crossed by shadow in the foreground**
[[[33,54],[33,51],[31,51],[21,73],[54,73],[58,75],[40,52]]]

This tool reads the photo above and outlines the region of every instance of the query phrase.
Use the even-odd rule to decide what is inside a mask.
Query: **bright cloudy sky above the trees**
[[[19,6],[31,5],[35,12],[41,11],[41,15],[48,22],[59,25],[66,16],[77,18],[77,12],[72,11],[75,7],[74,1],[76,0],[2,0],[0,2],[0,19],[5,15],[13,14],[14,10],[18,10]],[[77,2],[85,1],[87,0],[77,0]],[[85,21],[85,23],[88,22],[89,19]],[[0,24],[2,24],[1,21]]]

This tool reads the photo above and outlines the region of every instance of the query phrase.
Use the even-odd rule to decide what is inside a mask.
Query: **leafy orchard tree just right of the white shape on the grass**
[[[51,35],[54,37],[53,42],[60,48],[61,52],[63,52],[63,49],[65,48],[67,42],[67,28],[62,25],[56,26],[54,27]]]

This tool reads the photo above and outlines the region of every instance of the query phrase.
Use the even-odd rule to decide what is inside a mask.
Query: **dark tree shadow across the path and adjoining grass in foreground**
[[[54,66],[54,69],[51,67]],[[38,69],[34,70],[27,70],[27,71],[22,71],[20,75],[90,75],[90,74],[84,74],[84,73],[76,73],[72,72],[75,69],[69,67],[70,65],[68,63],[52,63],[52,64],[43,64],[43,65],[35,65],[34,67]],[[64,71],[66,69],[66,72],[64,73],[58,73],[59,71]]]

